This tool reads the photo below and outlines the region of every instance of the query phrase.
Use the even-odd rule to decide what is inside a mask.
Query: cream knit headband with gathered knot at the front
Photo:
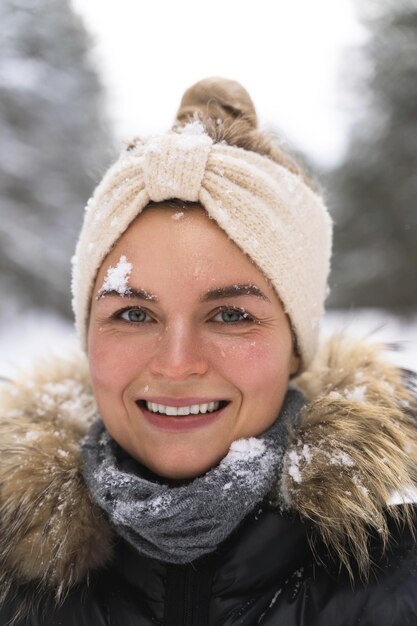
[[[199,202],[274,285],[302,357],[311,362],[323,314],[331,220],[321,198],[285,167],[213,143],[198,122],[125,151],[88,201],[73,257],[73,308],[82,345],[97,272],[150,201]]]

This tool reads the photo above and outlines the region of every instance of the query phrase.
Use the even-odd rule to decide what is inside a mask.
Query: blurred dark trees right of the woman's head
[[[345,161],[325,177],[336,221],[328,304],[411,313],[417,308],[417,2],[366,0],[358,10],[370,38],[348,58],[345,75],[362,115]]]

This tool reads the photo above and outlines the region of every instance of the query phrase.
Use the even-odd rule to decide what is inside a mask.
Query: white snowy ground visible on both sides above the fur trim
[[[395,342],[394,362],[417,371],[417,314],[409,319],[380,310],[332,311],[323,323],[323,336],[344,331],[373,343]],[[73,325],[53,313],[12,308],[0,314],[0,377],[36,357],[65,354],[77,345]]]

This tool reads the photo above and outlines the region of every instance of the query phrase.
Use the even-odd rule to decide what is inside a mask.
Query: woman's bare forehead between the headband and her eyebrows
[[[145,209],[104,260],[96,291],[122,257],[132,266],[130,286],[158,296],[181,290],[182,296],[189,292],[199,297],[216,287],[245,283],[277,299],[258,267],[201,207]]]

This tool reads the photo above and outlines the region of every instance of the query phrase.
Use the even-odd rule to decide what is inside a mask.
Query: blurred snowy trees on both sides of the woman
[[[343,90],[361,115],[344,162],[324,173],[336,222],[328,304],[407,313],[417,305],[417,5],[364,0],[358,11],[370,35],[350,52]],[[70,315],[83,207],[115,156],[105,94],[69,0],[2,0],[0,20],[0,289]]]

